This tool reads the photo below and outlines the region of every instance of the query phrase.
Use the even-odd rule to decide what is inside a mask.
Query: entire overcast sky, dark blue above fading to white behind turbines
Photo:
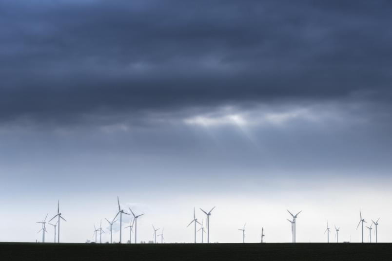
[[[298,242],[358,242],[360,207],[391,241],[391,7],[0,1],[0,241],[40,240],[58,199],[61,241],[91,240],[117,196],[138,241],[192,242],[215,205],[213,242],[290,242],[287,208]]]

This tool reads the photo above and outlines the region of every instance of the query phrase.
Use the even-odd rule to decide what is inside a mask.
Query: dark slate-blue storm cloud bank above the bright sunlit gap
[[[388,101],[391,7],[2,1],[0,119],[67,121],[282,99]]]

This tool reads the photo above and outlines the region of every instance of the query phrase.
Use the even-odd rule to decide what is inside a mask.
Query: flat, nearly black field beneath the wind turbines
[[[91,244],[0,243],[0,260],[392,260],[391,243]]]

